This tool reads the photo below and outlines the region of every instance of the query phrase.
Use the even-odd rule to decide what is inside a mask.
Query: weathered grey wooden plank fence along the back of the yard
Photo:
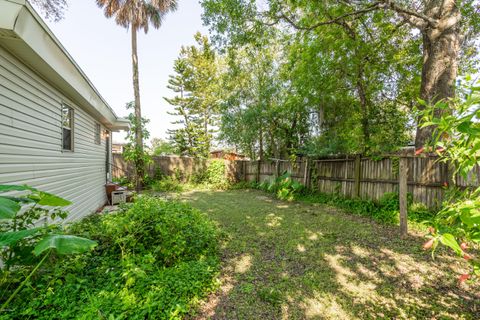
[[[387,192],[399,192],[400,166],[404,172],[408,193],[415,202],[429,208],[438,208],[445,196],[445,186],[455,183],[459,187],[479,185],[480,169],[472,170],[468,179],[452,178],[450,165],[433,156],[385,156],[371,159],[361,156],[328,158],[319,160],[288,161],[227,161],[227,174],[236,181],[273,180],[289,172],[291,177],[308,187],[323,193],[338,193],[345,197],[379,200]],[[160,170],[163,174],[180,172],[186,179],[206,168],[207,161],[187,157],[155,157],[148,167],[150,175]],[[133,173],[133,167],[125,163],[121,155],[114,155],[113,177]],[[453,181],[455,180],[455,181]]]

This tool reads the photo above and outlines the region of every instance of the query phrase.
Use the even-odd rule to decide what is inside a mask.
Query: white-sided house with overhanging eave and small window
[[[28,184],[73,205],[106,203],[111,132],[128,129],[22,0],[0,0],[0,184]]]

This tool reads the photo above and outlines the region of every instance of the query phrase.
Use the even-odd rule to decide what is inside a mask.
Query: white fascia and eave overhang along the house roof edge
[[[76,102],[107,128],[116,130],[119,118],[91,81],[24,0],[0,0],[0,44],[45,80]],[[5,31],[11,32],[5,36]],[[1,35],[2,33],[0,33]],[[128,120],[127,120],[128,121]]]

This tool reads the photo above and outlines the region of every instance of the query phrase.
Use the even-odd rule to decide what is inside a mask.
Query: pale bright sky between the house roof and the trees
[[[46,21],[100,94],[118,116],[128,115],[125,104],[134,100],[130,33],[107,19],[94,0],[69,1],[65,18]],[[163,97],[173,96],[167,88],[173,62],[184,45],[194,44],[193,35],[207,34],[201,21],[202,8],[197,0],[179,1],[176,12],[166,16],[163,25],[143,31],[138,38],[140,95],[143,116],[150,119],[151,138],[167,138],[173,111]],[[122,142],[125,134],[115,133]]]

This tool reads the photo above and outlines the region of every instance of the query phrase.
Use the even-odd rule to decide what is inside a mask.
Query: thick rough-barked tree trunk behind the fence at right
[[[443,3],[443,5],[442,5]],[[460,12],[455,1],[433,0],[425,14],[438,19],[437,26],[422,30],[423,67],[420,97],[427,104],[434,105],[441,100],[455,97],[455,79],[458,72],[460,52]],[[420,106],[423,109],[423,106]],[[448,110],[436,110],[441,116]],[[420,120],[420,119],[419,119]],[[432,139],[435,127],[417,128],[415,147],[420,148]]]

